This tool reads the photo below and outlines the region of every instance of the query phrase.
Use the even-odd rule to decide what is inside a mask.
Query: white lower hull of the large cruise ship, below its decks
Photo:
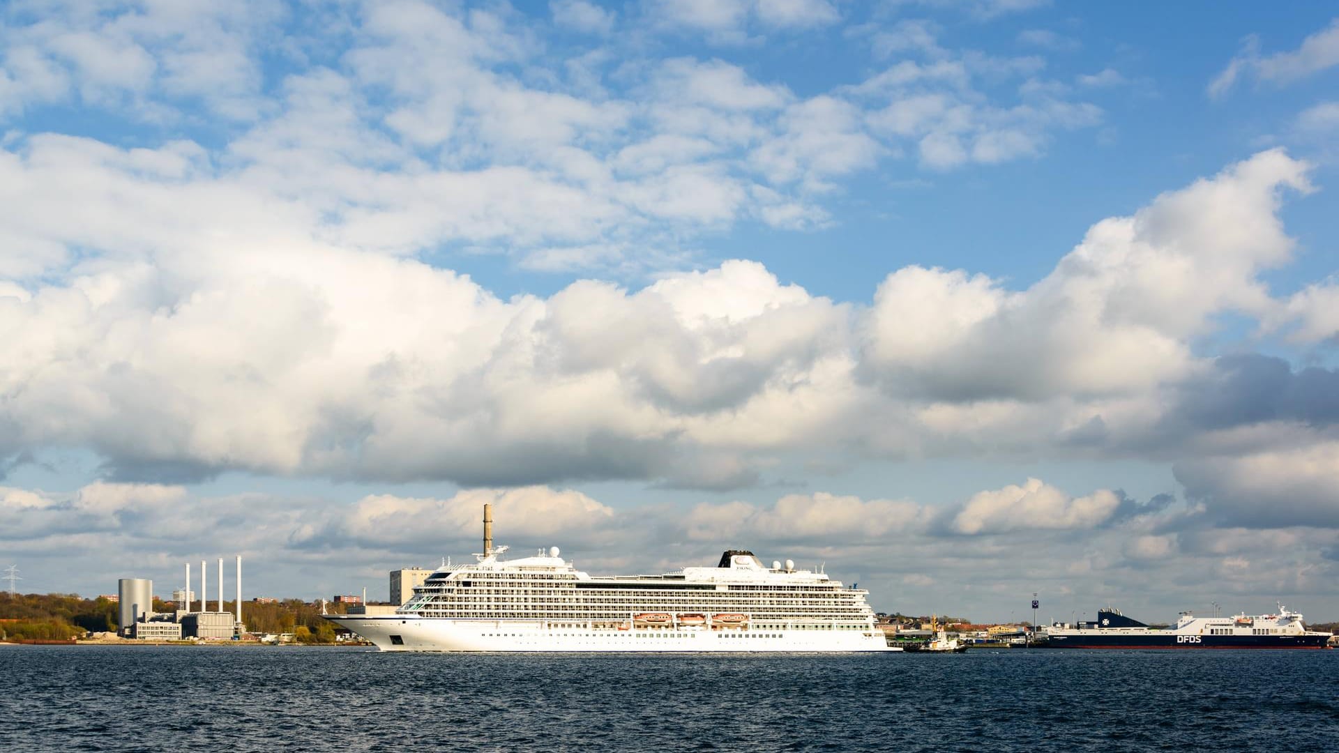
[[[548,628],[528,620],[329,615],[382,651],[888,651],[881,632],[854,630]]]

